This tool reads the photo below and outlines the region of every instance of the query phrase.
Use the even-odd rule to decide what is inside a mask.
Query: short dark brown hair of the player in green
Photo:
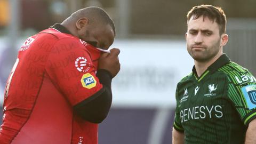
[[[215,7],[212,5],[199,5],[194,6],[187,14],[187,23],[191,17],[193,19],[198,19],[203,16],[203,18],[207,17],[212,21],[215,21],[219,25],[220,35],[226,33],[226,15],[221,7]]]

